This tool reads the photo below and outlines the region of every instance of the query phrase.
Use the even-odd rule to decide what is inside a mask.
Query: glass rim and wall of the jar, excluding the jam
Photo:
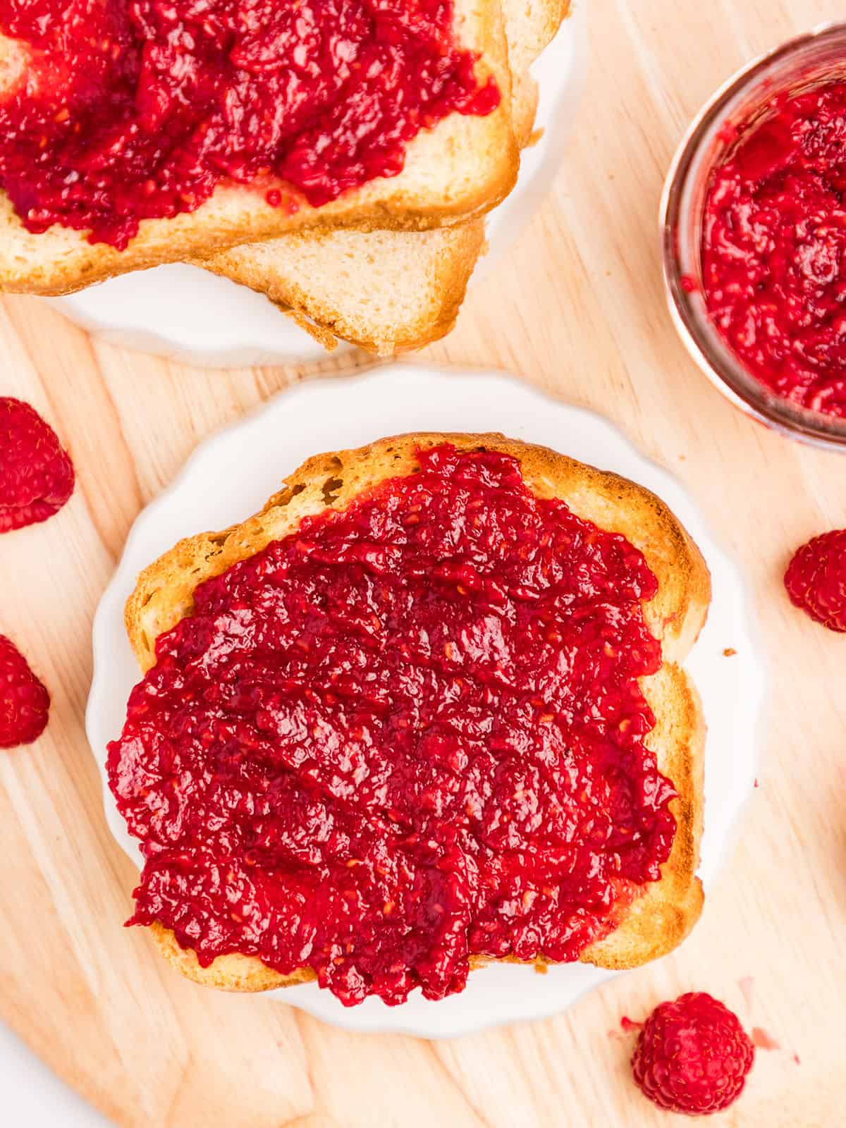
[[[712,169],[732,129],[761,115],[774,97],[846,80],[846,23],[826,24],[754,60],[722,86],[694,120],[661,197],[667,300],[688,352],[735,406],[782,434],[846,451],[846,418],[800,407],[747,370],[714,327],[702,293],[702,220]],[[693,280],[693,285],[691,285]]]

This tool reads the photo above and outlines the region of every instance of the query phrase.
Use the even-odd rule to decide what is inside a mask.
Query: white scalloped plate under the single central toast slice
[[[203,442],[173,485],[135,521],[95,617],[94,682],[86,715],[88,739],[104,778],[106,819],[115,838],[140,865],[138,844],[126,832],[104,769],[106,744],[120,734],[126,699],[139,680],[123,628],[123,605],[138,572],[180,537],[222,529],[255,512],[279,488],[283,475],[310,455],[408,431],[503,431],[554,447],[653,490],[689,529],[705,555],[714,587],[707,626],[688,662],[710,730],[699,869],[707,885],[751,792],[764,691],[763,662],[738,571],[715,545],[679,483],[599,415],[550,399],[501,373],[413,365],[316,380],[280,394],[256,414]],[[734,656],[723,655],[729,647],[737,651]],[[115,927],[120,924],[115,920]],[[531,968],[494,966],[474,972],[460,995],[433,1003],[415,993],[394,1008],[370,998],[347,1010],[316,984],[272,994],[347,1030],[448,1038],[563,1011],[611,973],[584,964],[553,967],[545,976]]]

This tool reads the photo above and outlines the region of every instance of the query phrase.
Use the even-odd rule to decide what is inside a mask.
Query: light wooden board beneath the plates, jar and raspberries
[[[846,636],[794,611],[781,587],[793,546],[846,525],[846,461],[769,434],[712,390],[670,326],[656,238],[690,115],[754,53],[843,5],[591,5],[589,90],[555,188],[426,356],[511,369],[605,412],[685,482],[741,563],[770,691],[737,847],[677,954],[536,1024],[441,1045],[351,1037],[182,980],[121,927],[134,873],[106,829],[82,724],[91,616],[139,509],[197,440],[303,373],[192,371],[7,298],[0,394],[56,426],[79,487],[59,518],[0,544],[0,632],[53,694],[47,734],[0,756],[0,1015],[120,1125],[681,1123],[632,1085],[618,1023],[687,989],[723,998],[782,1047],[758,1054],[742,1100],[710,1125],[846,1123]]]

